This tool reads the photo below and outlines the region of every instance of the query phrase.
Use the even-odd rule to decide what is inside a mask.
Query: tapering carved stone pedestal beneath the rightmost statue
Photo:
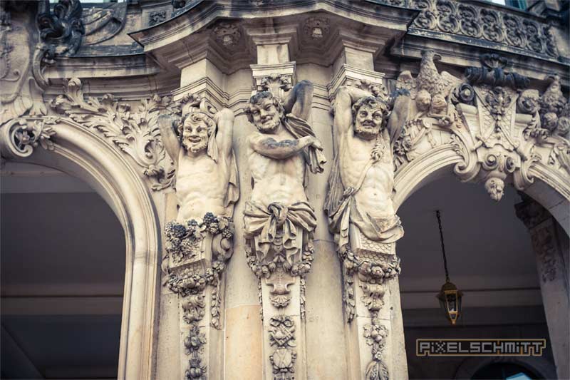
[[[351,225],[351,246],[340,252],[350,377],[406,378],[395,243],[368,240]]]

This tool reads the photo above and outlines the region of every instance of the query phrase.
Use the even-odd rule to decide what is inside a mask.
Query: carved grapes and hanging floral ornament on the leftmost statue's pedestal
[[[206,379],[202,363],[206,335],[199,322],[207,302],[204,290],[210,287],[210,325],[221,329],[221,284],[226,262],[232,256],[234,223],[229,217],[207,212],[202,220],[169,222],[165,227],[166,252],[162,258],[164,284],[179,294],[182,319],[190,325],[184,345],[190,356],[186,379]]]

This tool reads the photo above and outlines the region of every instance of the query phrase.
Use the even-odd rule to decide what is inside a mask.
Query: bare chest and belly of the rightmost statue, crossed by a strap
[[[383,157],[368,168],[362,185],[354,197],[358,205],[371,216],[392,217],[395,213],[391,199],[394,185],[392,151],[386,130],[380,132],[378,138],[383,139]],[[375,145],[375,140],[357,137],[353,128],[343,134],[339,140],[338,151],[344,188],[358,188],[363,170],[366,170],[371,161]]]

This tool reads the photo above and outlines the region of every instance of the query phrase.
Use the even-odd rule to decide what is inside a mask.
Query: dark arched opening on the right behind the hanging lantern
[[[546,339],[542,357],[554,369],[535,253],[515,215],[519,195],[508,187],[494,202],[482,186],[460,183],[452,173],[435,178],[423,181],[398,210],[405,227],[398,255],[410,379],[454,379],[465,361],[465,356],[416,356],[416,339],[423,338]],[[435,297],[445,282],[435,210],[442,213],[451,282],[464,292],[455,327]],[[552,374],[536,373],[544,379]]]

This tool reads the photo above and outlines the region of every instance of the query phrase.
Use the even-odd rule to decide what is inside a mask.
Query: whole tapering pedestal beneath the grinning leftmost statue
[[[211,213],[185,224],[170,222],[166,283],[178,294],[181,374],[185,379],[223,378],[223,299],[233,223]]]

